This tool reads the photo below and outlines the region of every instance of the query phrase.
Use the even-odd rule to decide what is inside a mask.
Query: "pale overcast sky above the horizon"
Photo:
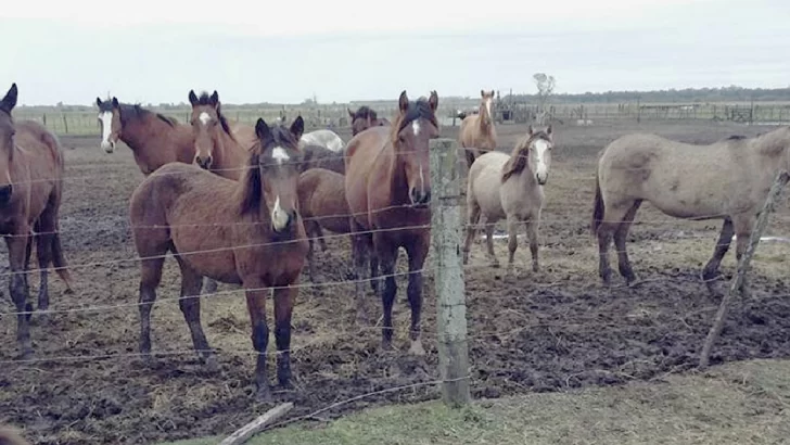
[[[511,4],[511,1],[512,4]],[[8,3],[8,4],[7,4]],[[0,7],[24,104],[319,102],[790,86],[787,0],[36,0]],[[0,92],[1,93],[1,92]]]

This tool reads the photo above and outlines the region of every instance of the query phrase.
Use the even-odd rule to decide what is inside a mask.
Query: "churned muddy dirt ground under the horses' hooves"
[[[522,244],[517,252],[521,270],[515,278],[506,277],[504,268],[487,265],[483,245],[475,244],[464,272],[473,394],[498,397],[613,385],[693,367],[718,304],[698,275],[713,251],[721,224],[672,219],[644,205],[628,249],[635,271],[646,281],[633,289],[603,289],[588,230],[595,156],[607,142],[636,130],[706,143],[768,129],[715,123],[557,126],[540,224],[541,270],[527,271],[528,249]],[[524,130],[523,126],[500,126],[500,148],[509,150]],[[455,138],[457,128],[444,132]],[[341,136],[348,138],[348,134]],[[15,319],[0,316],[0,423],[24,428],[38,444],[152,443],[229,433],[268,409],[252,399],[254,353],[242,293],[220,284],[227,293],[204,301],[203,326],[220,361],[218,373],[207,373],[191,351],[189,330],[173,300],[178,296],[179,276],[171,259],[166,262],[153,312],[153,349],[158,355],[153,367],[142,364],[136,355],[139,271],[127,216],[128,199],[142,174],[127,148],[105,154],[98,136],[63,138],[62,142],[68,177],[62,239],[75,293],[64,294],[63,283],[51,278],[51,308],[97,310],[58,313],[46,325],[34,316],[36,361],[31,363],[15,360]],[[770,234],[790,236],[787,204],[782,201],[773,216]],[[395,306],[399,351],[382,353],[378,327],[353,325],[354,285],[342,283],[351,270],[348,242],[335,238],[328,244],[327,252],[318,253],[319,270],[328,282],[340,283],[301,291],[292,340],[296,387],[275,395],[276,402],[294,402],[291,417],[369,392],[437,379],[431,275],[423,305],[428,356],[406,355],[409,309],[404,279],[398,280]],[[782,242],[761,244],[753,263],[753,296],[731,308],[714,349],[714,364],[790,356],[788,249],[790,244]],[[505,265],[505,240],[497,240],[497,251]],[[5,257],[4,247],[0,255]],[[723,265],[727,275],[734,264],[730,253]],[[7,271],[5,267],[0,270]],[[303,282],[309,283],[306,274]],[[31,295],[37,287],[34,278]],[[0,313],[13,312],[5,284],[2,293]],[[372,294],[370,298],[371,310],[380,313],[379,298]],[[437,395],[432,385],[394,391],[321,417]]]

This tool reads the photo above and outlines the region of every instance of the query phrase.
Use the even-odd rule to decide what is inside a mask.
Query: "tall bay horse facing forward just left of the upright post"
[[[365,272],[372,247],[381,274],[383,304],[382,347],[392,347],[392,308],[395,303],[395,260],[404,247],[409,259],[407,295],[411,306],[409,352],[424,355],[420,341],[422,268],[431,242],[431,167],[429,142],[439,137],[438,96],[409,101],[404,90],[399,113],[391,127],[369,128],[348,142],[345,192],[352,213],[355,274]],[[357,282],[357,321],[365,320],[364,284]]]

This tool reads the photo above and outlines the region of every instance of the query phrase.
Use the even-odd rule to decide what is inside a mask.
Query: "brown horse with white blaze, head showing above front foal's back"
[[[204,91],[200,97],[190,90],[189,102],[192,105],[190,125],[194,140],[194,163],[224,178],[239,180],[246,167],[252,143],[241,142],[246,138],[237,138],[222,114],[216,90],[212,96]],[[239,127],[237,131],[240,131]]]

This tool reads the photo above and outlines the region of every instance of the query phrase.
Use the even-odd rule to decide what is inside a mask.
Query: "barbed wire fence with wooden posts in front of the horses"
[[[462,240],[462,231],[464,230],[464,224],[462,223],[463,218],[461,217],[461,201],[460,201],[460,180],[458,177],[458,169],[456,168],[457,165],[457,154],[458,154],[458,147],[457,143],[449,139],[439,139],[437,141],[432,141],[432,148],[431,148],[431,154],[432,154],[432,183],[435,191],[435,196],[433,202],[433,219],[431,223],[431,229],[432,229],[432,246],[431,246],[431,254],[429,255],[429,263],[421,271],[434,274],[434,285],[435,285],[435,295],[436,295],[436,331],[430,332],[423,330],[425,333],[431,333],[435,335],[437,340],[438,345],[438,355],[439,355],[439,369],[438,374],[439,379],[426,379],[423,382],[417,382],[417,383],[410,383],[407,385],[398,385],[390,389],[383,389],[379,391],[372,391],[365,394],[360,394],[344,400],[337,400],[333,404],[330,404],[323,408],[314,410],[313,412],[300,417],[295,417],[292,419],[289,419],[284,422],[276,423],[272,425],[269,425],[267,428],[276,428],[289,423],[293,423],[296,421],[305,420],[315,418],[317,416],[320,416],[321,414],[329,411],[331,409],[337,408],[342,405],[352,404],[356,400],[360,400],[366,397],[372,397],[375,395],[380,395],[382,393],[391,393],[391,392],[397,392],[397,391],[406,391],[409,389],[416,389],[420,386],[441,386],[442,387],[442,396],[445,403],[447,403],[450,406],[462,406],[470,402],[471,395],[470,395],[470,385],[471,385],[471,367],[469,365],[469,351],[468,351],[468,342],[469,342],[469,333],[467,331],[467,306],[466,306],[466,295],[464,295],[464,270],[469,270],[474,267],[481,267],[486,268],[488,266],[480,265],[480,266],[462,266],[460,262],[460,247],[461,247],[461,240]],[[783,176],[782,176],[783,175]],[[787,182],[787,175],[782,174],[780,175],[780,178],[777,179],[777,183],[781,182],[780,186],[777,186],[772,191],[770,195],[768,196],[768,200],[766,201],[766,206],[764,208],[768,211],[764,211],[761,214],[761,225],[759,225],[761,228],[764,229],[765,225],[767,224],[767,215],[769,213],[769,209],[772,208],[770,202],[775,201],[778,196],[779,192],[781,191],[781,186],[783,186],[785,182]],[[75,177],[72,177],[75,178]],[[783,181],[783,182],[782,182]],[[778,191],[777,191],[778,190]],[[329,217],[336,217],[341,215],[333,215],[333,216],[322,216],[317,217],[316,219],[320,218],[329,218]],[[342,215],[347,216],[347,215]],[[712,215],[712,217],[715,217],[716,215]],[[667,219],[668,220],[668,219]],[[196,224],[200,225],[200,224]],[[133,227],[131,227],[133,229]],[[415,227],[411,227],[415,228]],[[425,228],[425,227],[418,227],[418,228]],[[381,230],[403,230],[404,228],[399,229],[380,229]],[[752,240],[750,243],[750,252],[753,253],[754,249],[756,247],[756,242],[759,242],[760,238],[762,236],[762,230],[755,230],[752,234]],[[324,238],[331,238],[331,237],[347,237],[347,234],[332,234],[332,236],[324,236]],[[755,241],[756,240],[756,241]],[[280,241],[280,242],[288,242],[288,241]],[[247,245],[249,247],[256,246],[255,244]],[[231,246],[231,247],[225,247],[225,249],[243,249],[244,246]],[[179,253],[179,255],[194,255],[194,254],[201,254],[201,253],[208,253],[208,252],[215,252],[213,251],[200,251],[200,252],[186,252],[186,253]],[[749,258],[751,257],[751,254],[748,254],[747,257],[742,258],[738,266],[738,272],[736,274],[736,278],[734,278],[734,291],[731,291],[729,294],[735,295],[736,290],[739,289],[738,285],[736,285],[735,280],[742,280],[742,277],[746,275],[748,270],[748,263]],[[75,267],[94,267],[97,265],[106,265],[106,264],[117,264],[119,262],[139,262],[142,258],[135,257],[129,259],[117,259],[113,262],[99,262],[99,263],[90,263],[90,264],[80,264],[80,265],[73,265],[69,266],[69,268]],[[34,271],[37,271],[37,269],[29,269],[26,272],[31,274]],[[8,274],[1,274],[0,276],[8,277],[10,275],[17,274],[16,271],[10,271]],[[395,276],[407,276],[409,272],[394,272],[392,274],[393,277]],[[738,278],[740,277],[740,278]],[[383,277],[379,277],[383,278]],[[361,281],[369,281],[370,278],[367,279],[360,279]],[[342,280],[342,281],[330,281],[330,282],[323,282],[323,283],[301,283],[298,284],[300,288],[307,288],[307,287],[334,287],[334,285],[348,285],[349,283],[353,283],[353,281],[348,280]],[[551,284],[549,284],[551,285]],[[271,288],[267,288],[271,289]],[[184,296],[178,296],[174,298],[158,298],[158,302],[162,301],[177,301],[181,298],[203,298],[208,296],[221,296],[221,295],[238,295],[243,293],[245,290],[229,290],[229,291],[219,291],[212,294],[202,294],[202,295],[184,295]],[[728,294],[728,295],[729,295]],[[788,295],[790,296],[790,295]],[[726,304],[729,301],[728,298],[725,298],[722,302],[722,306],[726,310]],[[85,306],[85,307],[73,307],[73,308],[65,308],[65,309],[49,309],[46,313],[50,314],[64,314],[64,313],[75,313],[75,312],[99,312],[99,310],[116,310],[120,307],[133,307],[138,306],[140,303],[124,303],[124,304],[117,304],[117,305],[101,305],[101,306]],[[719,313],[723,309],[719,308]],[[28,314],[28,313],[14,313],[9,312],[4,314],[0,314],[0,317],[15,317],[21,314]],[[723,316],[718,316],[714,321],[714,328],[715,325],[718,325],[719,320],[723,318]],[[540,326],[555,326],[555,327],[564,327],[565,325],[557,323],[557,322],[525,322],[523,326],[520,326],[519,329],[530,329]],[[357,327],[355,331],[360,330],[380,330],[379,327]],[[718,328],[721,330],[721,327]],[[713,332],[713,328],[712,328]],[[475,336],[480,339],[485,339],[488,335],[499,335],[499,336],[506,336],[508,334],[512,334],[512,332],[502,332],[502,331],[490,331],[490,332],[477,332]],[[704,349],[706,353],[703,354],[710,354],[710,349],[713,342],[715,342],[715,335],[712,333],[711,336],[709,336],[709,340],[705,343]],[[713,339],[713,340],[711,340]],[[304,348],[309,347],[310,345],[314,345],[318,342],[317,339],[313,339],[313,341],[307,342],[306,344],[294,347],[290,349],[289,352],[298,352]],[[249,351],[240,349],[240,351],[229,351],[234,354],[249,354],[249,355],[257,355],[258,353],[252,351],[250,348]],[[176,351],[160,351],[160,352],[152,352],[153,355],[190,355],[195,354],[196,352],[194,349],[176,349]],[[282,353],[282,352],[279,352]],[[271,352],[267,354],[279,354],[278,352]],[[28,361],[20,361],[20,360],[3,360],[0,361],[0,365],[12,365],[12,364],[34,364],[34,363],[40,363],[40,361],[49,361],[49,363],[68,363],[74,360],[98,360],[98,359],[109,359],[109,358],[131,358],[131,357],[139,357],[140,354],[103,354],[103,355],[86,355],[86,356],[60,356],[60,357],[39,357],[39,358],[33,358]],[[700,359],[700,366],[706,366],[706,355],[703,355]]]

